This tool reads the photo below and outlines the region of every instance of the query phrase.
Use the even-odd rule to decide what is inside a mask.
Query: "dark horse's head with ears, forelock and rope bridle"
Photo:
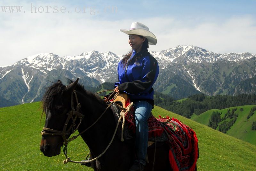
[[[74,119],[82,119],[82,114],[75,110],[78,106],[74,91],[78,79],[65,86],[60,80],[50,86],[43,97],[43,108],[46,114],[40,150],[45,156],[52,157],[60,154],[60,148],[67,138],[75,131]],[[78,106],[79,108],[79,106]]]

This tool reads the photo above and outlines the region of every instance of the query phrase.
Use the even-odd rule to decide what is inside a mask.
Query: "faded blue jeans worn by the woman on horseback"
[[[134,104],[136,123],[136,154],[137,162],[146,165],[148,148],[148,117],[153,106],[146,101],[138,101]]]

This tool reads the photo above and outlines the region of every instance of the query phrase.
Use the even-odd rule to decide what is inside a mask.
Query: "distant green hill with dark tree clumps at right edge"
[[[190,119],[256,145],[256,105],[211,109]]]

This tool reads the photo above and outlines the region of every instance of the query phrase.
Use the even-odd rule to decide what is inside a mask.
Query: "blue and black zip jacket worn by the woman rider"
[[[136,56],[140,58],[135,60]],[[122,60],[118,63],[117,73],[115,87],[118,86],[120,93],[127,93],[133,102],[145,100],[154,105],[152,86],[159,74],[159,66],[148,51],[136,53],[133,50],[126,66],[123,66]]]

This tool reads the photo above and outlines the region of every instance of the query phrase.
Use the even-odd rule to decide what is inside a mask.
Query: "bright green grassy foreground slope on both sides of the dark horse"
[[[63,152],[59,156],[45,157],[39,149],[44,116],[40,103],[0,108],[0,170],[85,170],[91,168],[75,163],[62,164]],[[255,170],[256,146],[228,136],[203,124],[155,106],[153,114],[177,118],[193,128],[199,140],[200,158],[198,170]],[[81,138],[69,144],[68,155],[82,160],[89,152]]]

